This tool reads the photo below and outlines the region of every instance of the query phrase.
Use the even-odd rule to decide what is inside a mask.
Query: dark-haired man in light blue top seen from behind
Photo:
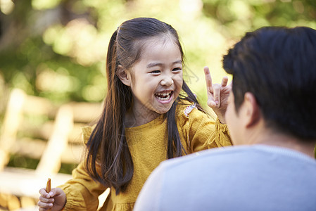
[[[235,146],[163,162],[134,210],[316,210],[316,31],[246,33],[223,67]]]

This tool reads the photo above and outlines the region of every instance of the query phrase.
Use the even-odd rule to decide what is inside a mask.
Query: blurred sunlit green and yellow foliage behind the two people
[[[245,32],[263,26],[316,29],[316,1],[0,0],[1,132],[8,130],[4,122],[14,89],[56,108],[70,102],[101,103],[110,36],[122,22],[136,17],[158,18],[175,27],[186,56],[185,78],[205,105],[205,65],[213,82],[220,83],[226,75],[222,55]],[[41,128],[42,120],[32,121]],[[10,155],[6,165],[36,169],[38,163]],[[75,165],[62,165],[58,172],[70,174]],[[0,209],[9,210],[8,204],[1,205],[1,195]]]

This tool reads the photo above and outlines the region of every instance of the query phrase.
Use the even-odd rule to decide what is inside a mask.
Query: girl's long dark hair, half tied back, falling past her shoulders
[[[139,60],[144,45],[141,41],[157,36],[170,36],[181,52],[184,53],[179,42],[177,31],[167,23],[154,18],[134,18],[122,23],[115,30],[108,45],[106,58],[106,72],[108,76],[108,93],[104,101],[104,108],[99,122],[96,124],[87,143],[86,167],[92,178],[105,186],[113,186],[116,193],[125,191],[134,173],[132,155],[125,137],[125,114],[132,106],[132,91],[123,84],[116,75],[118,65],[130,68]],[[196,103],[196,96],[183,82],[184,94],[179,95],[172,107],[165,114],[168,122],[168,150],[167,158],[175,158],[186,153],[177,129],[176,108],[179,99]],[[99,167],[101,170],[99,170]]]

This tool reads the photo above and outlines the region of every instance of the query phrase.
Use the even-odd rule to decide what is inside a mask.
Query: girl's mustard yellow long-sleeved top
[[[210,120],[205,113],[190,106],[178,105],[177,127],[182,145],[187,153],[202,151],[207,148],[231,146],[227,125]],[[92,132],[91,127],[84,127],[84,140],[87,141]],[[134,175],[124,193],[115,194],[111,188],[101,210],[132,210],[141,187],[147,177],[167,156],[167,120],[163,115],[138,127],[125,129],[127,144],[134,163]],[[72,179],[60,186],[67,196],[64,210],[96,210],[99,205],[98,196],[106,190],[89,177],[84,162],[72,172]]]

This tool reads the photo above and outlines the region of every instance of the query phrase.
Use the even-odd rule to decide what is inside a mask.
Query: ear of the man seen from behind
[[[246,92],[244,96],[244,106],[246,109],[246,127],[251,127],[258,123],[261,116],[260,108],[258,106],[255,96],[251,92]]]

